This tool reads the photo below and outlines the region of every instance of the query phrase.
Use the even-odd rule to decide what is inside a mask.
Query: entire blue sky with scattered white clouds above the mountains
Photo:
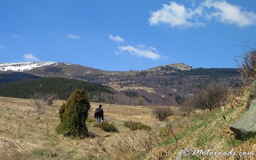
[[[101,70],[237,67],[256,41],[255,0],[1,0],[0,63]]]

